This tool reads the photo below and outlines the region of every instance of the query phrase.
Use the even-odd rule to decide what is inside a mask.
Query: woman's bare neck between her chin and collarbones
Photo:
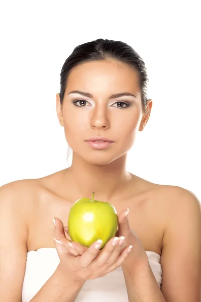
[[[94,165],[73,154],[72,165],[66,172],[68,184],[79,198],[91,198],[94,192],[95,200],[109,201],[125,190],[132,179],[132,174],[126,171],[126,159],[124,155],[107,165]]]

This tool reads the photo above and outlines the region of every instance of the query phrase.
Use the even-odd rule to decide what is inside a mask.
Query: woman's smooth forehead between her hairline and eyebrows
[[[66,90],[82,89],[87,92],[140,91],[138,73],[126,63],[91,61],[75,66],[68,77]]]

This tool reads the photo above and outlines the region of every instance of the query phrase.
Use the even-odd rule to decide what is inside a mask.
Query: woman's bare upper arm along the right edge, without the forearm
[[[161,290],[167,302],[200,302],[200,204],[191,192],[174,189],[163,237]]]

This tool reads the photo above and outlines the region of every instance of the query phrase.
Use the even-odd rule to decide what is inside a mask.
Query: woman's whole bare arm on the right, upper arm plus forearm
[[[148,262],[141,262],[135,269],[124,269],[129,302],[200,302],[200,204],[191,192],[179,187],[166,196],[161,291]]]

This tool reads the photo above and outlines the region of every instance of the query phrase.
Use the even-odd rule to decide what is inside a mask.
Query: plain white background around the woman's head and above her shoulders
[[[146,63],[150,120],[130,172],[201,200],[199,1],[2,1],[0,186],[67,167],[56,116],[65,59],[98,39],[131,45]]]

